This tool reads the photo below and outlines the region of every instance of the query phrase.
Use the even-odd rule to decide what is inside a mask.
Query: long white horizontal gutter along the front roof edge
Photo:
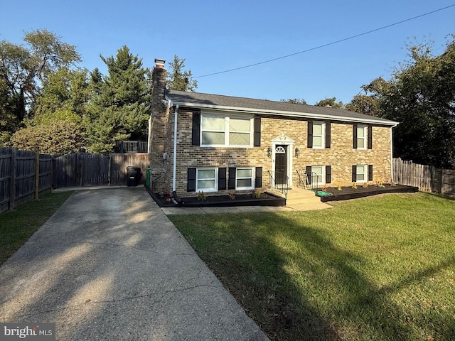
[[[254,109],[254,108],[245,108],[245,107],[228,107],[224,105],[214,105],[214,104],[200,104],[200,103],[192,103],[192,102],[174,102],[174,104],[178,104],[181,107],[188,107],[188,108],[200,108],[200,109],[213,109],[213,110],[220,110],[220,111],[230,111],[230,112],[248,112],[248,113],[255,113],[255,114],[274,114],[277,116],[288,116],[288,117],[301,117],[305,119],[322,119],[328,121],[343,121],[343,122],[355,122],[355,123],[373,123],[373,124],[380,124],[383,126],[396,126],[397,122],[395,121],[382,121],[379,119],[360,119],[356,117],[345,117],[345,116],[338,116],[338,115],[324,115],[324,114],[310,114],[310,113],[298,113],[298,112],[285,112],[282,110],[270,110],[270,109]]]

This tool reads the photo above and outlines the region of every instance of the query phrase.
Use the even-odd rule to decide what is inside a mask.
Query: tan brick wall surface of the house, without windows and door
[[[165,190],[171,193],[173,188],[174,109],[175,107],[168,109],[161,106],[154,111],[151,138],[152,178],[161,173],[165,174],[156,181],[154,192]],[[374,125],[373,146],[371,149],[362,150],[353,148],[352,123],[326,121],[331,123],[331,148],[317,149],[307,147],[307,119],[255,114],[255,117],[261,118],[260,146],[201,147],[192,145],[193,112],[200,113],[200,109],[178,108],[176,192],[180,196],[197,195],[196,192],[187,191],[188,168],[262,167],[262,189],[268,188],[269,173],[274,171],[274,154],[269,157],[267,150],[278,144],[287,145],[292,186],[299,185],[297,171],[303,174],[307,166],[331,166],[331,186],[350,185],[353,165],[373,165],[373,181],[369,181],[370,184],[391,181],[390,126]],[[280,136],[286,140],[281,141]],[[299,156],[296,156],[296,148],[299,148]],[[163,153],[168,156],[166,161],[163,160]],[[232,190],[220,190],[208,195],[231,192]]]

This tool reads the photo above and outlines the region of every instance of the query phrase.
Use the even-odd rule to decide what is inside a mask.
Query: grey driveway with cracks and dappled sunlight
[[[0,322],[57,340],[268,340],[144,188],[85,190],[0,268]]]

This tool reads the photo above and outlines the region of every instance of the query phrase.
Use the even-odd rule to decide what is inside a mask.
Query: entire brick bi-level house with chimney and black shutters
[[[390,183],[388,121],[331,107],[166,90],[155,60],[151,183],[181,197],[302,183]]]

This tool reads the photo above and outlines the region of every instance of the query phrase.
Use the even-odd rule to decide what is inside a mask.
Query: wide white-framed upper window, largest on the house
[[[202,114],[201,146],[250,147],[253,142],[253,117]]]

